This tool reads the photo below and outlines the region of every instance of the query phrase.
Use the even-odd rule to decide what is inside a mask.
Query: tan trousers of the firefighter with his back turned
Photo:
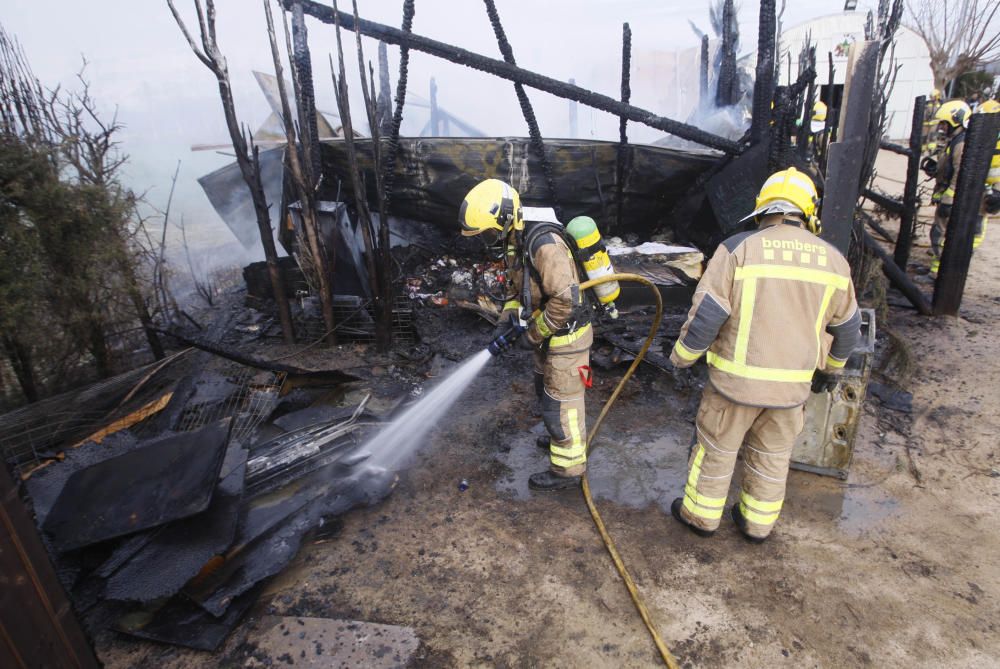
[[[765,409],[737,404],[706,384],[684,486],[684,518],[705,530],[719,526],[742,450],[740,513],[750,535],[766,537],[781,512],[792,446],[804,416],[804,406]]]

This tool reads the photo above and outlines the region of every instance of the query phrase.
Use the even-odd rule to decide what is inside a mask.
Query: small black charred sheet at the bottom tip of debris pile
[[[211,652],[217,650],[235,629],[262,589],[263,585],[240,595],[221,617],[205,612],[182,597],[174,597],[162,608],[134,611],[123,616],[115,629],[140,639]]]

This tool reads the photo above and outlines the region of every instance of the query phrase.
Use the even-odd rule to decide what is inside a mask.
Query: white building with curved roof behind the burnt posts
[[[834,107],[839,107],[843,93],[844,78],[847,74],[847,54],[853,42],[864,41],[867,12],[842,12],[821,16],[792,28],[781,34],[781,80],[788,84],[788,57],[791,56],[791,77],[799,71],[799,53],[806,39],[816,45],[816,85],[826,98],[829,85],[829,53],[833,54]],[[888,135],[901,140],[909,137],[913,120],[913,99],[918,95],[929,95],[934,88],[931,74],[930,55],[923,39],[915,32],[900,26],[896,32],[895,62],[900,66],[896,85],[889,96],[886,109],[888,115]],[[831,111],[833,111],[831,109]]]

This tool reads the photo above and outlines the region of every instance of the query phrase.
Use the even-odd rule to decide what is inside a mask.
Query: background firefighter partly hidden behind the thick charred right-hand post
[[[941,265],[941,251],[944,248],[944,235],[948,229],[948,217],[955,202],[955,187],[958,184],[959,166],[962,164],[962,152],[965,150],[965,129],[969,125],[972,109],[963,100],[949,100],[934,114],[938,122],[938,136],[944,140],[943,148],[937,159],[923,161],[924,171],[934,177],[934,193],[931,202],[937,205],[934,210],[934,224],[931,226],[931,273],[937,274]]]

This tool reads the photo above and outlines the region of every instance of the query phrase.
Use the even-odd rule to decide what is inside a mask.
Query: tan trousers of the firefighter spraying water
[[[593,343],[593,330],[586,325],[551,337],[544,350],[535,351],[535,389],[550,437],[549,462],[559,476],[580,476],[587,469],[586,385],[580,368],[590,364]]]

